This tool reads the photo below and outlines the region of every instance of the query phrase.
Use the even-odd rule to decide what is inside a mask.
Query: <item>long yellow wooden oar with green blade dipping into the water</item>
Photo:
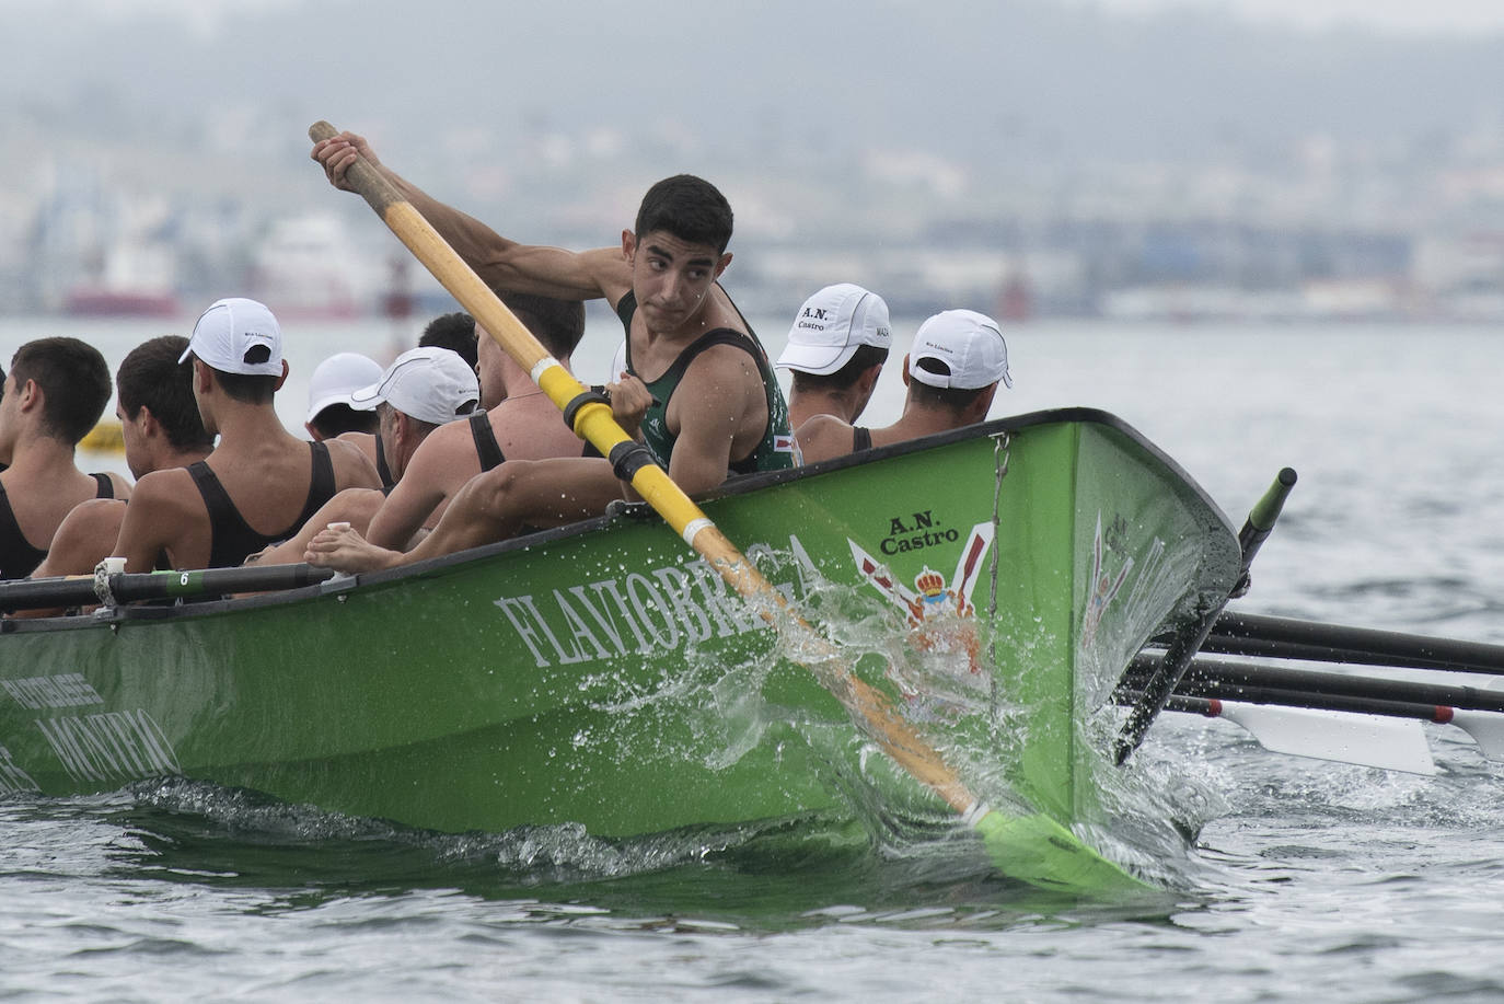
[[[308,128],[308,137],[314,141],[335,134],[328,122],[316,122]],[[788,608],[784,596],[680,491],[653,461],[651,453],[621,431],[611,406],[587,391],[538,345],[516,315],[378,169],[364,158],[356,158],[346,181],[490,337],[532,375],[534,382],[564,411],[570,427],[611,459],[617,476],[630,482],[654,512],[752,604],[764,622],[793,641],[787,650],[800,653],[797,658],[847,707],[853,720],[904,771],[978,829],[993,863],[1005,875],[1051,888],[1142,888],[1054,819],[1042,813],[1005,816],[984,804],[887,695],[851,673],[836,647]],[[1045,846],[1047,841],[1053,846]]]

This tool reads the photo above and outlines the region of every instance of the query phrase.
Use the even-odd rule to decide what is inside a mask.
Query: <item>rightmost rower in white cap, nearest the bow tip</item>
[[[886,429],[862,437],[850,421],[815,415],[799,429],[806,464],[844,456],[854,450],[889,446],[905,440],[960,429],[987,418],[997,384],[1012,387],[1008,345],[991,318],[975,310],[945,310],[914,334],[904,357],[908,393],[904,414]]]

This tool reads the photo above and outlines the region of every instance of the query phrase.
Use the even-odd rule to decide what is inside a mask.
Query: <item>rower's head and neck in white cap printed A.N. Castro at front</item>
[[[877,294],[836,283],[806,300],[778,357],[778,367],[793,373],[788,424],[797,431],[815,415],[854,423],[892,345],[887,304]]]

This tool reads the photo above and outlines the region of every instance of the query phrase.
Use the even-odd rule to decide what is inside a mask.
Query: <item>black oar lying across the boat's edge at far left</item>
[[[197,572],[117,572],[104,577],[104,590],[93,575],[21,578],[0,583],[0,610],[47,610],[53,607],[93,607],[105,596],[117,604],[176,596],[226,596],[299,589],[322,583],[332,569],[310,564],[248,564],[245,567],[205,569]],[[105,592],[105,596],[101,596]]]

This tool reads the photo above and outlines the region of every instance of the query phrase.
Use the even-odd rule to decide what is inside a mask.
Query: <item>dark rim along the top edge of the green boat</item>
[[[1191,494],[1202,504],[1205,504],[1206,509],[1212,512],[1227,527],[1227,530],[1232,534],[1236,536],[1236,527],[1221,510],[1221,507],[1211,498],[1211,495],[1206,494],[1206,491],[1196,482],[1196,479],[1193,479],[1173,458],[1170,458],[1164,450],[1157,447],[1142,432],[1139,432],[1136,427],[1133,427],[1117,415],[1098,408],[1087,408],[1087,406],[1048,408],[1041,411],[1024,412],[1020,415],[1006,415],[1002,418],[993,418],[990,421],[970,424],[960,429],[951,429],[948,432],[938,432],[916,440],[905,440],[902,443],[893,443],[890,446],[875,447],[859,453],[848,453],[844,456],[832,458],[829,461],[820,461],[817,464],[793,467],[779,471],[744,474],[728,479],[723,485],[708,492],[696,495],[695,501],[698,504],[714,503],[723,498],[735,498],[738,495],[746,495],[755,491],[761,491],[764,488],[772,488],[790,482],[799,482],[806,477],[820,477],[823,474],[832,474],[835,471],[841,471],[845,468],[862,467],[865,464],[877,464],[896,456],[920,453],[932,449],[952,446],[955,443],[964,443],[969,440],[982,440],[1005,432],[1020,432],[1029,427],[1060,424],[1060,423],[1098,424],[1126,437],[1137,447],[1149,453],[1158,464],[1163,464],[1187,488],[1190,488]],[[456,551],[454,554],[444,554],[439,557],[427,558],[424,561],[417,561],[414,564],[403,564],[400,567],[385,569],[381,572],[362,572],[359,575],[335,577],[332,580],[325,580],[323,583],[316,583],[311,586],[260,593],[256,596],[205,599],[196,602],[176,604],[176,605],[134,604],[134,605],[101,610],[92,614],[69,614],[60,617],[35,617],[35,619],[5,617],[0,619],[0,635],[32,634],[38,631],[66,631],[66,629],[116,626],[125,622],[155,622],[155,620],[209,617],[226,613],[256,610],[260,607],[296,604],[314,596],[323,596],[331,593],[332,595],[347,593],[350,590],[364,589],[367,586],[370,587],[388,586],[393,581],[400,581],[405,578],[421,578],[457,564],[483,561],[487,558],[498,557],[501,554],[507,554],[510,551],[553,543],[556,540],[564,540],[579,534],[593,533],[596,530],[603,530],[612,522],[623,518],[638,519],[642,522],[651,522],[659,519],[659,516],[651,510],[651,507],[647,503],[618,501],[612,503],[611,509],[608,509],[606,513],[600,516],[591,516],[590,519],[581,519],[578,522],[572,522],[562,527],[541,530],[538,533],[511,537],[508,540],[498,540],[495,543],[484,543],[477,548]]]

